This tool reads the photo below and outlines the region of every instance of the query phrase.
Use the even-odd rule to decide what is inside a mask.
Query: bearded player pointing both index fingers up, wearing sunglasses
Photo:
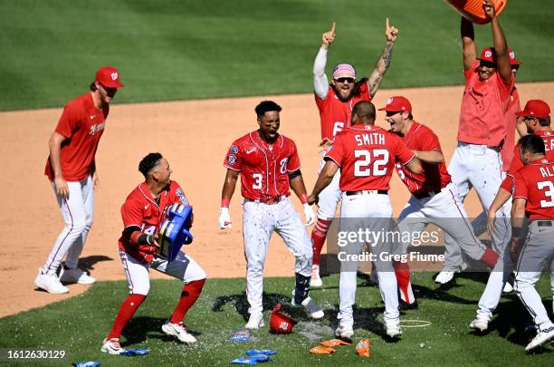
[[[349,63],[339,63],[333,69],[333,79],[329,83],[325,75],[325,65],[327,64],[327,53],[330,44],[335,40],[336,24],[329,32],[322,34],[322,43],[315,62],[313,64],[313,90],[316,105],[320,111],[321,123],[321,143],[324,147],[321,154],[320,170],[325,164],[323,157],[329,150],[330,141],[340,130],[348,127],[350,124],[350,115],[352,106],[358,101],[371,101],[377,93],[379,84],[383,80],[383,75],[387,72],[388,65],[392,57],[392,49],[396,40],[398,30],[394,26],[387,24],[385,26],[385,36],[387,42],[383,53],[377,59],[375,69],[371,72],[369,78],[356,80],[356,70]],[[340,173],[330,185],[320,194],[318,203],[318,220],[311,232],[311,241],[313,242],[313,266],[311,285],[321,286],[320,278],[320,253],[325,242],[325,237],[329,230],[330,222],[337,211],[337,204],[340,198],[339,190]]]

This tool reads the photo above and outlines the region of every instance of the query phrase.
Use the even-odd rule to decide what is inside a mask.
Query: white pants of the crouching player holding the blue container
[[[171,263],[168,263],[167,260],[154,257],[151,263],[143,264],[120,249],[119,257],[127,276],[129,294],[131,295],[148,295],[150,290],[150,268],[173,276],[185,284],[205,279],[205,271],[202,266],[199,266],[191,256],[186,255],[183,251],[179,251],[177,257]]]

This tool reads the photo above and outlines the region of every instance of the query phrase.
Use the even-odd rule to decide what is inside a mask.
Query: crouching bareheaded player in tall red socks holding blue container
[[[205,283],[205,272],[191,257],[180,251],[168,263],[156,254],[158,228],[167,217],[168,208],[175,203],[188,205],[183,189],[170,179],[173,170],[159,153],[149,153],[139,163],[144,182],[131,191],[121,206],[123,233],[119,237],[119,257],[129,283],[129,296],[119,308],[111,331],[102,342],[101,351],[110,354],[125,352],[119,336],[150,290],[150,269],[182,280],[185,285],[173,314],[161,329],[182,343],[196,343],[186,331],[183,318],[196,303]]]

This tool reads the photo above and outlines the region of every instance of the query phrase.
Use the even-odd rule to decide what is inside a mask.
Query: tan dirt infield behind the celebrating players
[[[519,84],[519,89],[522,101],[530,98],[554,101],[554,83]],[[416,121],[435,130],[449,159],[456,142],[462,87],[381,91],[375,103],[381,107],[387,97],[398,94],[410,99]],[[122,227],[119,208],[142,180],[139,160],[150,151],[159,151],[169,160],[174,170],[172,178],[184,188],[195,208],[195,242],[186,247],[186,252],[204,266],[210,277],[244,276],[239,189],[231,204],[234,227],[229,232],[221,232],[217,227],[225,173],[221,164],[230,143],[256,129],[253,107],[263,99],[282,105],[281,132],[296,141],[302,173],[310,190],[316,179],[320,138],[319,115],[310,94],[129,105],[118,105],[116,99],[97,154],[100,189],[96,192],[94,226],[82,254],[82,265],[91,275],[99,280],[124,279],[117,253]],[[2,159],[5,179],[0,185],[6,203],[0,220],[0,233],[5,234],[0,256],[0,317],[87,289],[84,285],[70,285],[69,295],[49,295],[33,289],[37,269],[62,229],[53,189],[43,176],[47,140],[61,111],[0,113],[0,153],[5,157]],[[387,126],[383,116],[382,112],[377,113],[377,124]],[[408,192],[396,177],[390,197],[397,215]],[[298,200],[293,201],[300,208]],[[470,216],[479,214],[474,194],[466,201],[466,208]],[[289,251],[274,237],[265,274],[292,275],[289,271],[292,266]],[[152,275],[164,276],[157,272]]]

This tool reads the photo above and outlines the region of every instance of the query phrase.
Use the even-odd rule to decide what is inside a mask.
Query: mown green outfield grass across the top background
[[[104,64],[119,67],[118,102],[311,92],[321,33],[337,21],[328,69],[373,69],[385,17],[400,34],[383,88],[461,84],[459,16],[442,0],[3,0],[0,111],[61,107]],[[501,14],[522,61],[520,82],[554,80],[549,0]],[[490,25],[477,43],[492,42]]]

